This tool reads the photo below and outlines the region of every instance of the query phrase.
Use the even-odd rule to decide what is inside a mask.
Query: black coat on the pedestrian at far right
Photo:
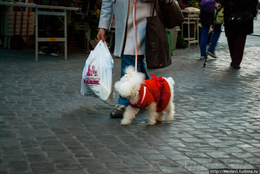
[[[224,26],[226,37],[245,36],[253,33],[253,17],[256,16],[258,0],[217,0],[224,7]],[[250,10],[252,19],[245,24],[233,26],[229,21],[232,12],[242,9]]]

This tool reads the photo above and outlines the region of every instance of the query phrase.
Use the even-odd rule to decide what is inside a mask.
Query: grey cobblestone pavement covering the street
[[[257,20],[255,27],[260,24]],[[259,30],[258,30],[259,31]],[[260,34],[259,34],[260,35]],[[197,46],[176,49],[172,65],[149,70],[175,80],[173,121],[132,125],[111,119],[117,104],[80,95],[88,55],[68,60],[0,49],[0,173],[209,173],[260,167],[260,42],[248,36],[241,69],[230,66],[221,34],[206,67]],[[115,80],[120,59],[114,58]]]

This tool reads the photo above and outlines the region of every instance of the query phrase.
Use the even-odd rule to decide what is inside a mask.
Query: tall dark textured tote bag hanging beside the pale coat
[[[156,8],[157,15],[154,16]],[[152,16],[146,17],[145,58],[148,69],[165,68],[172,64],[169,42],[158,0],[154,0]]]

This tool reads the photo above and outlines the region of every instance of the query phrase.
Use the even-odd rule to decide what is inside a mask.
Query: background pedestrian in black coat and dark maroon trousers
[[[257,14],[257,3],[258,0],[217,0],[215,4],[217,9],[225,7],[224,27],[231,56],[230,65],[235,69],[240,69],[246,35],[253,33],[253,18],[256,17]],[[241,18],[247,18],[247,16],[241,16],[239,14],[241,11],[243,15],[249,13],[249,18],[239,23]],[[238,16],[238,18],[236,16]]]

